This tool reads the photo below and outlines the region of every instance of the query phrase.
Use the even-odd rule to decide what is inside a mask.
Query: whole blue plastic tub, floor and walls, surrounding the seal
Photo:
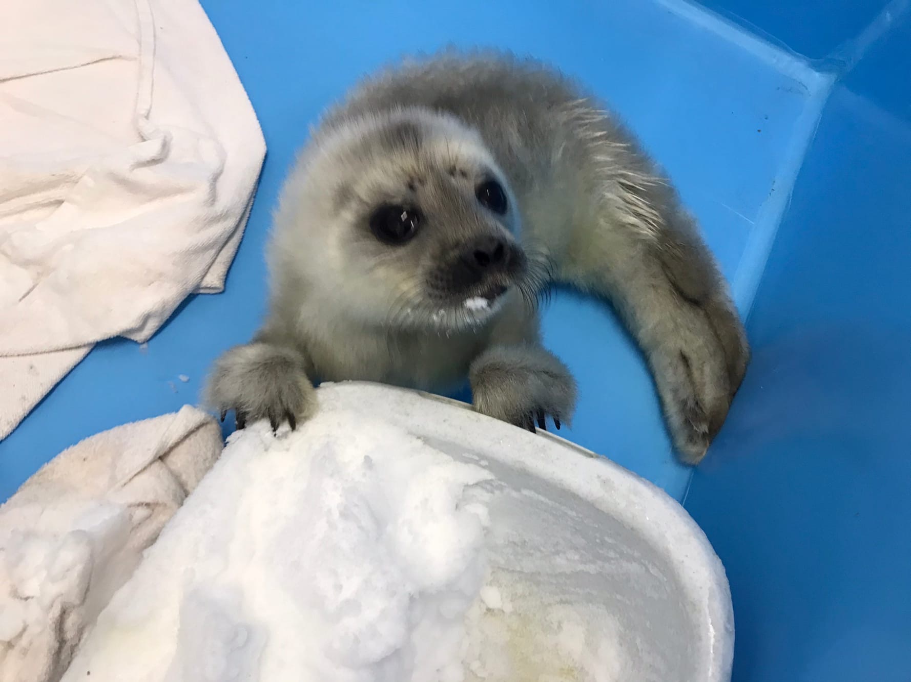
[[[148,348],[99,344],[0,443],[0,499],[87,435],[196,402],[210,362],[250,338],[270,210],[322,107],[403,53],[506,47],[586,81],[639,133],[701,220],[754,349],[693,472],[612,312],[560,291],[545,332],[580,382],[569,437],[705,529],[731,581],[736,682],[911,680],[908,0],[203,5],[269,146],[227,290],[189,300]]]

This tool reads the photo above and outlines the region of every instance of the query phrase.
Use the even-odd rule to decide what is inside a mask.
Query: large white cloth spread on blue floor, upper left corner
[[[0,438],[222,289],[265,144],[197,0],[0,2]]]

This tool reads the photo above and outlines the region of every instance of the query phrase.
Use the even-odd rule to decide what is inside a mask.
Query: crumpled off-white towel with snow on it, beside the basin
[[[0,506],[0,680],[63,675],[221,445],[188,405],[87,438]]]

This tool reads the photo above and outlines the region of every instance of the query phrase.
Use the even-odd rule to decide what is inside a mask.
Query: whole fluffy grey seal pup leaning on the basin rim
[[[268,317],[208,401],[292,428],[312,381],[440,391],[534,430],[576,387],[538,334],[552,281],[609,297],[670,433],[699,462],[749,351],[694,222],[617,120],[546,66],[445,53],[363,82],[323,117],[281,194]]]

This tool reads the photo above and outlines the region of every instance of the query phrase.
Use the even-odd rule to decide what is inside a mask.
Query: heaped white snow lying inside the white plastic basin
[[[64,680],[619,679],[603,609],[538,604],[534,586],[488,567],[495,490],[485,468],[360,413],[323,411],[277,437],[255,424]]]

